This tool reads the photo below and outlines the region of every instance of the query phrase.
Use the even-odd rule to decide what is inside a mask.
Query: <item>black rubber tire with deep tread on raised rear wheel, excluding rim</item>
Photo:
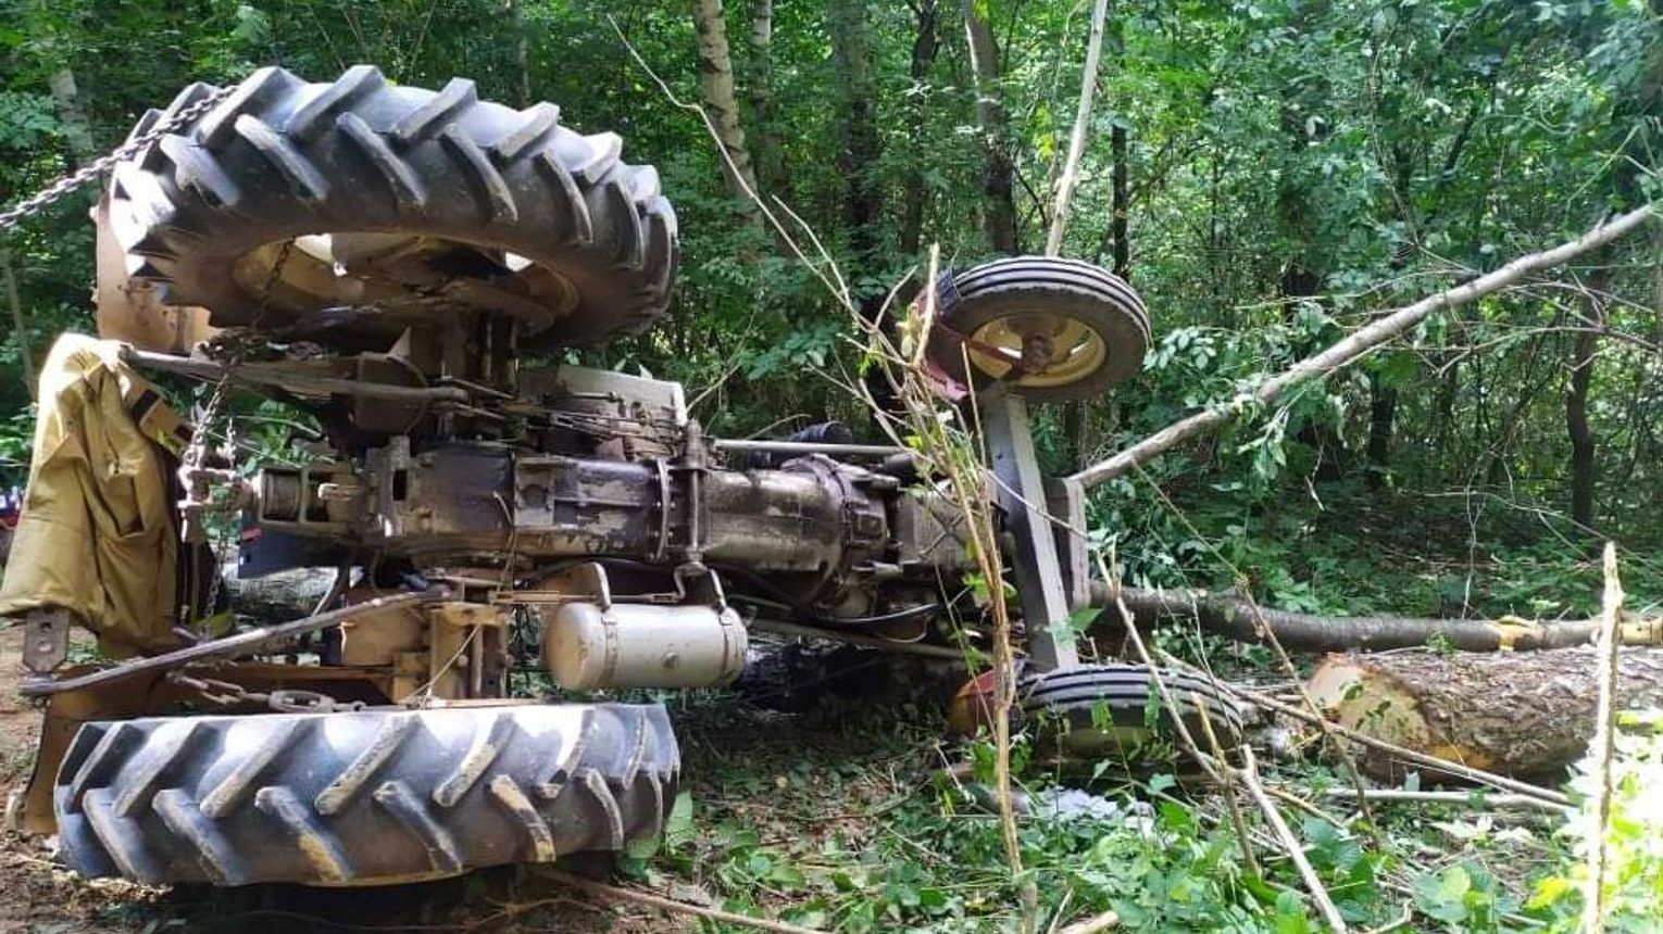
[[[188,88],[143,126],[210,93]],[[231,276],[251,249],[314,233],[402,233],[516,253],[565,278],[575,306],[560,304],[564,289],[544,292],[549,324],[522,346],[592,344],[650,326],[679,263],[659,173],[625,163],[622,146],[615,133],[569,130],[550,103],[481,101],[462,78],[424,91],[366,65],[328,85],[263,68],[118,166],[111,218],[131,274],[170,304],[208,307],[218,326],[249,324],[259,307],[254,286]],[[266,311],[281,324],[311,309]]]

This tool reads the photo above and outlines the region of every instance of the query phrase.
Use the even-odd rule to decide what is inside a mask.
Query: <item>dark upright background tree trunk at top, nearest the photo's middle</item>
[[[866,0],[832,3],[832,65],[838,73],[838,175],[848,186],[843,193],[843,218],[856,269],[876,271],[881,259],[878,226],[883,219],[883,189],[878,186],[878,125],[871,98],[871,43],[866,27]],[[878,301],[881,304],[881,299]],[[865,311],[865,309],[863,309]],[[876,309],[868,312],[873,317]]]

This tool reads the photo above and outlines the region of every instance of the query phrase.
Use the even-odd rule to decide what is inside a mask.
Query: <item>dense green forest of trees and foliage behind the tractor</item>
[[[1063,253],[1137,286],[1139,379],[1046,409],[1054,470],[1229,402],[1370,316],[1658,194],[1660,0],[1119,0]],[[908,0],[0,0],[0,203],[120,143],[190,81],[359,61],[552,100],[655,163],[682,228],[674,309],[589,352],[680,379],[723,434],[841,417],[861,349],[733,196],[720,118],[866,302],[931,243],[956,268],[1044,244],[1089,3]],[[615,23],[615,27],[614,27]],[[728,83],[732,76],[732,83]],[[27,464],[23,352],[90,329],[91,194],[7,238],[25,332],[0,346],[0,477]],[[1128,573],[1295,610],[1585,612],[1590,543],[1631,600],[1663,540],[1663,226],[1307,386],[1098,490]],[[3,279],[0,279],[3,284]]]

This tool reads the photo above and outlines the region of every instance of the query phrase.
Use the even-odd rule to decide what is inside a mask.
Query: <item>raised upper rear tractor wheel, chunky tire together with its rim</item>
[[[215,91],[191,85],[135,135]],[[339,344],[472,309],[517,319],[532,347],[590,344],[652,324],[675,278],[659,173],[620,150],[462,78],[261,68],[116,166],[110,221],[128,273],[215,326],[298,322]]]

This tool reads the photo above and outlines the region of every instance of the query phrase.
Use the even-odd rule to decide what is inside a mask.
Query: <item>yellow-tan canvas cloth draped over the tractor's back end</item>
[[[120,349],[65,334],[47,357],[0,615],[65,608],[105,651],[130,655],[178,643],[180,545],[163,449],[178,450],[183,432]]]

